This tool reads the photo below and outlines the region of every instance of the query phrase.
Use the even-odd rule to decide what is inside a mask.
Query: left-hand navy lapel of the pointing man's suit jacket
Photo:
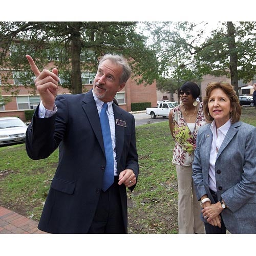
[[[99,113],[97,110],[95,100],[93,98],[92,90],[84,94],[82,108],[88,117],[92,130],[94,131],[95,136],[99,141],[102,151],[105,152],[103,136],[102,136],[100,120],[99,120]]]

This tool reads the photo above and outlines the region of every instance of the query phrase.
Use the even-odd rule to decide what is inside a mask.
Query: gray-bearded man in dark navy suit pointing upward
[[[130,67],[123,57],[107,54],[99,62],[91,91],[57,96],[58,70],[40,72],[26,57],[41,97],[27,130],[27,154],[34,160],[47,158],[59,147],[38,228],[49,233],[127,233],[126,187],[135,188],[139,173],[135,119],[113,99],[131,76]],[[106,190],[102,183],[108,152],[99,117],[103,103],[108,104],[109,152],[114,158],[113,184]]]

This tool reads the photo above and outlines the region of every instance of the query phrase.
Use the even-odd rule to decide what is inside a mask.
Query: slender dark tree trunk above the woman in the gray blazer
[[[237,47],[234,35],[235,29],[232,22],[227,22],[227,33],[228,33],[228,51],[229,51],[229,67],[230,67],[230,76],[231,84],[234,87],[234,90],[238,94],[238,55]]]

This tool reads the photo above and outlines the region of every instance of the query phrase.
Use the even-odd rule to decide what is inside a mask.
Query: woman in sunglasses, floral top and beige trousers
[[[200,89],[195,82],[183,83],[179,94],[181,104],[169,113],[170,133],[175,140],[173,163],[176,164],[178,178],[179,233],[204,233],[204,223],[200,219],[201,206],[192,179],[197,132],[206,123],[203,104],[196,100]]]

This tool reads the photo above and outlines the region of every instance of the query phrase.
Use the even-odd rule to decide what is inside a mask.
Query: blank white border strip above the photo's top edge
[[[154,3],[154,4],[153,4]],[[256,1],[2,1],[1,21],[255,21]]]

